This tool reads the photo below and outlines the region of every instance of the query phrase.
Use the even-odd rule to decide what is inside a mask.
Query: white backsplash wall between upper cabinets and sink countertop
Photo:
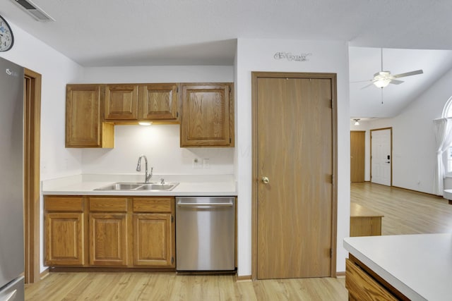
[[[116,125],[114,149],[84,149],[83,173],[143,173],[135,171],[144,154],[157,175],[234,174],[231,147],[179,147],[179,125]],[[194,168],[193,160],[209,160]],[[156,178],[156,177],[155,177]]]

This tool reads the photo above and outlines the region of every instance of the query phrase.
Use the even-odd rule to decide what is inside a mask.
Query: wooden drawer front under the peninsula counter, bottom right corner
[[[398,300],[349,259],[345,261],[345,288],[350,300]]]

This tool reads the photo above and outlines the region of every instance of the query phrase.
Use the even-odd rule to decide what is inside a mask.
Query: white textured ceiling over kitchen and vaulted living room
[[[82,66],[231,66],[237,38],[340,40],[376,47],[351,51],[353,81],[370,79],[380,69],[379,47],[452,50],[451,0],[32,1],[55,22],[39,23],[10,0],[0,0],[0,14]],[[392,73],[424,69],[419,79],[407,78],[398,86],[407,90],[406,102],[451,68],[449,51],[438,54],[402,55],[393,64],[388,53]],[[352,116],[369,115],[359,101],[380,91],[357,89],[350,86]],[[375,114],[390,116],[405,106],[389,108],[390,94],[386,97],[384,109],[379,106]]]

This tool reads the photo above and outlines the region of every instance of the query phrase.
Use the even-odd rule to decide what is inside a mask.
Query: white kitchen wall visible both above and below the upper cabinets
[[[85,68],[73,82],[233,82],[232,66],[138,66]],[[233,174],[234,149],[181,148],[179,125],[116,125],[114,149],[83,149],[83,173],[137,173],[145,154],[154,174]],[[209,168],[194,168],[193,159],[209,159]]]

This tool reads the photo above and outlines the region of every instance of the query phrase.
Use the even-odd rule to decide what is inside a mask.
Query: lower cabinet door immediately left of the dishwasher
[[[171,214],[133,214],[133,264],[174,267]]]

